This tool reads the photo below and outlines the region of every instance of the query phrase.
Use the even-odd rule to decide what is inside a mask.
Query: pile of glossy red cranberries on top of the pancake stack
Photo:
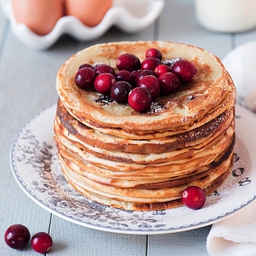
[[[80,89],[94,87],[113,101],[128,103],[139,112],[147,110],[158,96],[169,95],[181,84],[191,82],[197,72],[191,61],[181,58],[162,61],[162,53],[155,48],[146,51],[143,61],[125,53],[119,55],[115,64],[118,72],[107,64],[84,63],[75,75],[75,82]]]

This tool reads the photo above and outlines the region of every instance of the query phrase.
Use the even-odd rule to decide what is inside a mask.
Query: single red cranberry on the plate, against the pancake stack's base
[[[190,209],[197,210],[204,206],[207,200],[207,195],[204,190],[196,187],[190,186],[183,190],[182,201],[184,206]]]

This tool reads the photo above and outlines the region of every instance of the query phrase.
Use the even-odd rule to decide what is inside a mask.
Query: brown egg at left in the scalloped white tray
[[[62,0],[12,0],[15,20],[40,36],[52,31],[63,15]]]

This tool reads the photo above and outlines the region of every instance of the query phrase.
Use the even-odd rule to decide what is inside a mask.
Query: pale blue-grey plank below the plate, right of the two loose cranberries
[[[141,256],[146,255],[146,236],[135,236],[92,230],[61,218],[52,220],[51,236],[54,255]]]

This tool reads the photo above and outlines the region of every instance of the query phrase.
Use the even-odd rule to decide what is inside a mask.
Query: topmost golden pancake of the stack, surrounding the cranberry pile
[[[96,102],[101,96],[95,90],[81,90],[75,84],[75,74],[81,64],[103,62],[115,68],[123,53],[137,55],[141,61],[148,48],[157,48],[164,60],[184,58],[197,68],[193,82],[181,86],[170,96],[160,96],[145,113],[128,104]],[[199,127],[234,106],[236,90],[229,73],[218,57],[187,44],[171,42],[119,42],[96,44],[81,50],[61,67],[56,89],[67,111],[84,125],[120,137],[166,137]],[[150,136],[149,136],[150,137]]]

